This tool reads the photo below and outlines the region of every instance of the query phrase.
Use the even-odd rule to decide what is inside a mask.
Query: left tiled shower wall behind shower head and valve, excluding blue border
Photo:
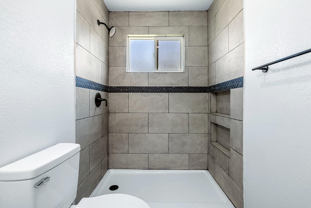
[[[109,12],[103,0],[77,0],[76,76],[108,85]],[[95,95],[108,93],[76,87],[76,143],[81,145],[76,203],[88,197],[108,169],[108,107],[95,106]]]

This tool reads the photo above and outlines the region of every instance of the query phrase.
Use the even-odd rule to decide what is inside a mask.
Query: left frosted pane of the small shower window
[[[154,40],[130,40],[130,72],[153,72]]]

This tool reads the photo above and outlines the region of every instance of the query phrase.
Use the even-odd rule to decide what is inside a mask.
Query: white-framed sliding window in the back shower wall
[[[184,72],[184,35],[128,35],[127,72]]]

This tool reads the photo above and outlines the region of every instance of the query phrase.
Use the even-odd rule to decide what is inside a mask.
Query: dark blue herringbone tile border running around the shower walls
[[[108,93],[216,93],[243,87],[243,76],[209,87],[108,87],[76,76],[76,87]]]

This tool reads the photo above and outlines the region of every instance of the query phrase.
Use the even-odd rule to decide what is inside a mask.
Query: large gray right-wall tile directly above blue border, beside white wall
[[[244,75],[244,46],[239,45],[216,62],[216,83]]]

